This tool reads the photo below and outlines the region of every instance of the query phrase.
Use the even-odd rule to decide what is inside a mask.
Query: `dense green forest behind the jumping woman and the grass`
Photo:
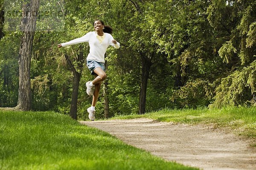
[[[6,22],[9,16],[5,12],[12,9],[19,15],[22,11],[17,5],[19,1],[11,1],[5,8],[7,1],[0,0],[0,107],[15,107],[18,98],[22,31]],[[86,59],[89,46],[82,43],[58,48],[57,45],[93,31],[96,19],[113,27],[113,37],[121,44],[119,50],[109,48],[106,53],[108,93],[103,93],[102,88],[97,117],[104,117],[105,96],[109,101],[109,116],[161,108],[256,105],[254,0],[41,0],[40,3],[41,14],[46,9],[58,9],[63,15],[52,19],[44,13],[37,23],[31,58],[33,110],[68,114],[72,70],[76,68],[81,73],[77,116],[87,117],[91,97],[86,94],[85,83],[93,77],[79,56]]]

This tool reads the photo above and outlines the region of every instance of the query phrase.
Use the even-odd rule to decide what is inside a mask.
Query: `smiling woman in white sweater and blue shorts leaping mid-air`
[[[91,71],[91,74],[94,75],[93,81],[86,82],[86,93],[93,96],[92,105],[90,108],[87,108],[90,120],[95,119],[95,106],[99,96],[99,89],[102,81],[107,78],[104,66],[106,50],[109,45],[117,49],[120,47],[119,42],[111,36],[113,29],[110,26],[105,26],[101,20],[94,21],[93,26],[95,31],[88,32],[83,37],[58,45],[60,48],[81,42],[89,42],[90,53],[86,59],[87,67]]]

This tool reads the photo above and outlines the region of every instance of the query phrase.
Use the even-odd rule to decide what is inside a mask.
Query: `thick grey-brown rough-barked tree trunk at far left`
[[[30,65],[36,19],[40,0],[31,0],[23,5],[20,28],[23,31],[19,52],[19,94],[17,108],[31,110]]]

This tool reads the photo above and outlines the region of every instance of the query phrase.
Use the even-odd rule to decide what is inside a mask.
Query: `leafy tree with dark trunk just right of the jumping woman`
[[[161,13],[161,8],[164,6],[161,3],[162,1],[157,0],[123,0],[122,3],[116,4],[119,7],[114,7],[126,9],[126,12],[118,11],[118,14],[121,14],[122,17],[115,18],[115,20],[119,20],[116,26],[124,34],[122,39],[125,48],[136,52],[141,61],[139,114],[144,114],[146,111],[147,85],[151,67],[157,64],[158,57],[161,57],[158,53],[159,45],[152,39],[166,34],[166,29],[160,23],[155,24],[157,19],[155,15]],[[160,7],[157,5],[160,5]],[[124,22],[123,18],[127,18],[128,21]]]

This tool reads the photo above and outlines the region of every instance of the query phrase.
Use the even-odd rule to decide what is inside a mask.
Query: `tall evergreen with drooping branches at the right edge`
[[[207,19],[219,32],[218,55],[224,76],[216,79],[211,107],[256,105],[256,2],[254,0],[211,2]]]

